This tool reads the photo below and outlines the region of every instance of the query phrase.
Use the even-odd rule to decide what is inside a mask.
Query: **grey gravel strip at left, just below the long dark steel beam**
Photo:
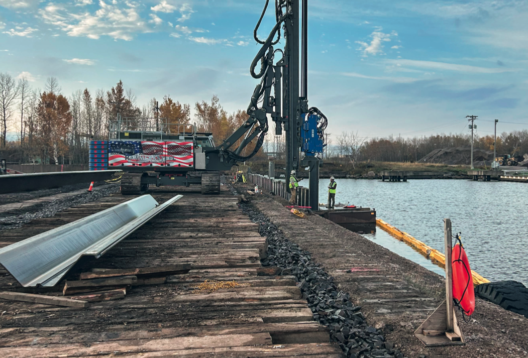
[[[4,216],[0,218],[0,231],[20,228],[23,224],[30,222],[31,220],[49,218],[50,216],[53,216],[60,211],[71,208],[72,206],[85,204],[90,201],[97,200],[100,197],[108,196],[119,191],[119,183],[107,184],[105,186],[106,187],[102,187],[101,189],[93,191],[91,193],[86,192],[76,196],[70,196],[64,199],[53,200],[33,212]]]

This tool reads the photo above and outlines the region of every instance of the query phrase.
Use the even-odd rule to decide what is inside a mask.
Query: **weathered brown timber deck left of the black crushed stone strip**
[[[182,189],[149,191],[162,203]],[[132,286],[124,299],[69,308],[0,299],[0,354],[3,357],[340,357],[325,327],[293,277],[257,277],[266,239],[222,189],[184,197],[121,241],[99,259],[81,261],[68,274],[94,268],[131,269],[190,263],[191,271],[165,283]],[[107,209],[133,196],[115,194],[2,232],[0,246]],[[194,293],[204,280],[239,285]],[[139,280],[138,280],[139,281]],[[155,281],[154,281],[155,282]],[[148,282],[144,282],[148,283]],[[59,291],[48,295],[62,295]],[[0,290],[20,285],[0,269]]]

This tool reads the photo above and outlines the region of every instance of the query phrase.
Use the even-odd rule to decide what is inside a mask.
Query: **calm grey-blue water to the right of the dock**
[[[329,180],[319,185],[327,201]],[[338,179],[336,202],[376,209],[377,217],[444,252],[444,218],[461,238],[471,268],[491,281],[516,280],[528,286],[528,183],[469,180]],[[443,274],[407,244],[381,229],[365,237],[400,256]]]

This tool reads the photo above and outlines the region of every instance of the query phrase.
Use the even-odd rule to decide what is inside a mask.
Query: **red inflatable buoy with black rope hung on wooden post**
[[[451,256],[453,270],[453,299],[470,316],[475,310],[475,290],[466,251],[457,243]]]

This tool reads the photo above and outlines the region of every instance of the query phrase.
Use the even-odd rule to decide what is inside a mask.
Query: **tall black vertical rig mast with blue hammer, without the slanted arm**
[[[250,117],[256,115],[257,103],[262,101],[260,109],[262,113],[259,115],[271,115],[276,124],[276,135],[281,135],[284,128],[286,132],[286,178],[289,178],[293,169],[308,167],[310,173],[309,203],[313,210],[318,210],[319,162],[325,146],[324,130],[327,126],[327,119],[317,108],[308,108],[308,0],[300,1],[302,11],[299,10],[299,0],[275,1],[277,23],[268,38],[261,41],[258,39],[257,30],[269,4],[269,0],[266,0],[264,10],[253,32],[254,39],[262,44],[262,48],[250,68],[251,76],[262,80],[253,92],[248,114]],[[301,13],[302,28],[299,34]],[[280,41],[281,27],[286,39],[284,51],[273,48]],[[274,41],[275,35],[277,39]],[[299,37],[301,56],[299,56]],[[282,54],[282,58],[275,61],[277,52]],[[254,69],[259,61],[261,69],[259,73],[255,73]],[[275,90],[275,96],[271,96],[272,87]],[[299,149],[304,153],[302,161]]]

